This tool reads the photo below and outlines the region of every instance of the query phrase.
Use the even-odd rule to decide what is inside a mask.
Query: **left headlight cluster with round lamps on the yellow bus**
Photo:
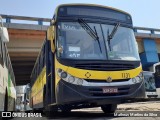
[[[82,85],[83,81],[84,81],[83,79],[80,79],[80,78],[77,78],[77,77],[74,77],[74,76],[68,74],[67,72],[63,71],[62,69],[58,69],[57,74],[62,80],[66,81],[68,83],[75,84],[75,85]]]

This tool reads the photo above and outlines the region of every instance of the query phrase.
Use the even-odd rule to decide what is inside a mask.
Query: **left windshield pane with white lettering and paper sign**
[[[63,22],[58,25],[58,56],[71,59],[106,59],[104,41],[99,24],[88,23],[97,31],[98,40],[91,37],[78,22]],[[61,50],[59,50],[61,49]]]

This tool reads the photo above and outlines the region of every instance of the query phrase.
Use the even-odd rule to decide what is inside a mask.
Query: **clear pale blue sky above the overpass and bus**
[[[132,15],[134,26],[160,28],[160,0],[0,0],[0,14],[52,18],[56,6],[65,3],[118,8]]]

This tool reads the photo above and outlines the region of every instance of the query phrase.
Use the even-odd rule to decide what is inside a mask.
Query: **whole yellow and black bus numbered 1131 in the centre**
[[[31,74],[31,107],[116,110],[145,96],[130,14],[92,4],[57,7]]]

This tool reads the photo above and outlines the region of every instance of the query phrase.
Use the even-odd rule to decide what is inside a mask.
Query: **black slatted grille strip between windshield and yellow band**
[[[101,71],[116,71],[116,70],[130,70],[134,69],[135,66],[132,64],[122,63],[83,63],[75,64],[76,68],[86,70],[101,70]]]

